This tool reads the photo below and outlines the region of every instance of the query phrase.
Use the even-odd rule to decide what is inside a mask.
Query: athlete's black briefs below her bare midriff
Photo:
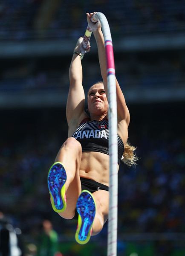
[[[83,178],[83,177],[80,177],[80,180],[81,180],[81,190],[86,189],[91,193],[98,191],[98,190],[109,191],[108,186],[101,184],[99,182],[96,182],[95,180],[91,180],[91,179],[87,179],[87,178]],[[78,212],[76,210],[75,210],[75,216],[73,219],[75,219],[75,220],[78,219]]]

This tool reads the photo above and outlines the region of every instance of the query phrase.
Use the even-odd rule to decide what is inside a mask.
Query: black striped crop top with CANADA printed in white
[[[72,135],[79,141],[84,151],[101,152],[109,154],[109,122],[107,117],[101,121],[90,121],[90,118],[84,119],[74,134]],[[118,135],[118,164],[124,152],[124,144]]]

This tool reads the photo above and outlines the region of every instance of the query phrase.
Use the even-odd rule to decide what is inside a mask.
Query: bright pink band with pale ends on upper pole
[[[105,41],[105,51],[107,56],[107,76],[115,75],[114,53],[113,53],[112,41],[110,40]]]

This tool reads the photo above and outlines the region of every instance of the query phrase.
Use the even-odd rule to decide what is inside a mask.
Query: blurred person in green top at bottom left
[[[42,223],[37,256],[55,256],[58,252],[58,234],[53,230],[52,223],[44,220]]]

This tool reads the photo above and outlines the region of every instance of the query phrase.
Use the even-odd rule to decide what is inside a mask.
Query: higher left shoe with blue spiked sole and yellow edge
[[[48,172],[48,188],[51,195],[52,208],[55,212],[64,212],[66,209],[66,179],[64,166],[61,162],[54,163]]]

